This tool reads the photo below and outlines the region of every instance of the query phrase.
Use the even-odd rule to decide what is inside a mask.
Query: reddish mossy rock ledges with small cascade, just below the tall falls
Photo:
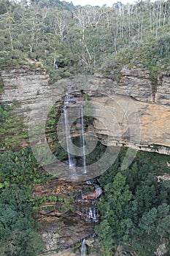
[[[58,218],[74,214],[75,217],[80,217],[87,222],[98,222],[100,214],[96,200],[101,193],[101,188],[96,184],[52,179],[46,184],[37,185],[34,189],[33,197],[36,197],[36,200],[45,198],[34,217],[36,219],[44,216]],[[50,197],[53,197],[53,202],[48,201]]]

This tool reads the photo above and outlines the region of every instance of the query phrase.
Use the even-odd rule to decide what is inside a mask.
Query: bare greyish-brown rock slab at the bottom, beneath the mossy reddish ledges
[[[60,219],[45,217],[39,220],[39,224],[41,225],[39,236],[45,242],[45,252],[74,246],[94,232],[93,223],[84,222],[76,217],[61,217]]]

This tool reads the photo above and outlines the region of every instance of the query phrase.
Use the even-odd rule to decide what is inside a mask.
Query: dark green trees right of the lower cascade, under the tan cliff
[[[96,232],[104,252],[112,255],[123,245],[149,256],[163,241],[169,250],[170,181],[156,178],[169,173],[169,157],[141,152],[128,169],[121,170],[124,156],[122,152],[100,178],[104,195],[98,203],[101,223]]]

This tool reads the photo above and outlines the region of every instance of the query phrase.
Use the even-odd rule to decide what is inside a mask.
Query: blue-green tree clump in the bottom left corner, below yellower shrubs
[[[31,195],[15,185],[0,195],[0,246],[3,256],[39,255],[44,248],[31,214]]]

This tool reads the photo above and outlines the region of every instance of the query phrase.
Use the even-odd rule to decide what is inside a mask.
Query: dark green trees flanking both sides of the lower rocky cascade
[[[158,176],[169,173],[169,156],[138,152],[131,166],[121,170],[125,151],[100,177],[104,192],[98,201],[98,255],[168,256],[170,181]],[[50,178],[40,170],[29,147],[0,155],[2,256],[39,255],[45,247],[33,218],[39,206],[32,197],[34,185]],[[119,250],[122,254],[116,254]]]

